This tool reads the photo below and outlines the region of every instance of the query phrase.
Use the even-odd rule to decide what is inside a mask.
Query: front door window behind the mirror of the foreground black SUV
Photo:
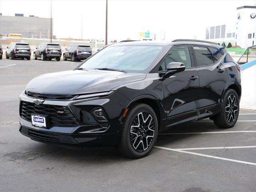
[[[181,62],[186,68],[191,67],[190,54],[187,46],[172,48],[166,56],[166,65],[170,62]]]

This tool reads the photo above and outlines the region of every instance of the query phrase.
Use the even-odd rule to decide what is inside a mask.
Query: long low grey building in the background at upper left
[[[0,34],[2,36],[21,34],[26,38],[49,39],[51,36],[51,19],[39,18],[34,15],[24,17],[23,14],[15,14],[15,16],[2,16],[0,14]]]

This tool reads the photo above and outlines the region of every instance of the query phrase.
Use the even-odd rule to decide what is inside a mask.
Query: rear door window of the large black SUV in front
[[[197,66],[213,64],[212,54],[206,47],[193,47],[196,54]]]

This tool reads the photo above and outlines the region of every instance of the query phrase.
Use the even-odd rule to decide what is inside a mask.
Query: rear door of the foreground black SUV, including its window
[[[199,112],[204,118],[219,111],[222,92],[228,75],[222,62],[222,53],[213,47],[193,46],[196,69],[199,75]]]

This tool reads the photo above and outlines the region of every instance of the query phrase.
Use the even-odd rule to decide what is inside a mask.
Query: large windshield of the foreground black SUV
[[[86,60],[80,68],[112,68],[146,72],[163,46],[108,46]]]

